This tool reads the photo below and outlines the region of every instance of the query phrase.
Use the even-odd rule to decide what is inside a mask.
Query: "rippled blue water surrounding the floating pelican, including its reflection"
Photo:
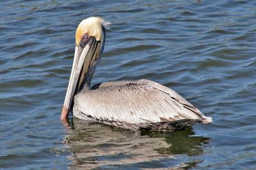
[[[211,125],[131,132],[59,120],[77,24],[113,24],[93,83],[147,78]],[[256,168],[255,1],[1,1],[0,169]]]

